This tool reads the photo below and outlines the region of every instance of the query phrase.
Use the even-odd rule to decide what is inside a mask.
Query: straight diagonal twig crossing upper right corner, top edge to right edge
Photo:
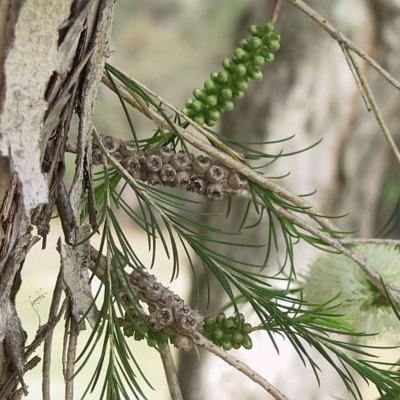
[[[333,39],[338,43],[343,43],[347,48],[353,50],[358,56],[364,59],[372,68],[378,71],[389,83],[391,83],[396,89],[400,90],[400,82],[396,80],[393,75],[382,68],[372,57],[364,53],[358,48],[358,46],[346,37],[342,32],[337,30],[331,23],[329,23],[325,18],[314,11],[310,6],[304,3],[302,0],[287,0],[289,3],[293,4],[295,7],[307,14],[314,22],[321,26],[325,31],[327,31]]]

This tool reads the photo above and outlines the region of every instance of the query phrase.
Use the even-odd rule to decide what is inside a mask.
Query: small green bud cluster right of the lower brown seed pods
[[[253,347],[249,336],[253,327],[245,322],[243,314],[227,318],[225,313],[219,313],[215,318],[204,317],[203,322],[204,325],[198,328],[199,332],[224,350],[229,351],[240,347],[248,350]]]

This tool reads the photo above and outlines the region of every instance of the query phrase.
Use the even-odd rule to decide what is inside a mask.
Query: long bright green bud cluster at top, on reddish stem
[[[249,80],[260,81],[261,67],[274,61],[280,46],[275,25],[251,25],[248,32],[251,37],[240,40],[233,57],[222,61],[224,71],[211,73],[203,89],[194,89],[194,98],[186,101],[182,111],[197,124],[214,126],[223,112],[234,109],[233,99],[244,97]]]

